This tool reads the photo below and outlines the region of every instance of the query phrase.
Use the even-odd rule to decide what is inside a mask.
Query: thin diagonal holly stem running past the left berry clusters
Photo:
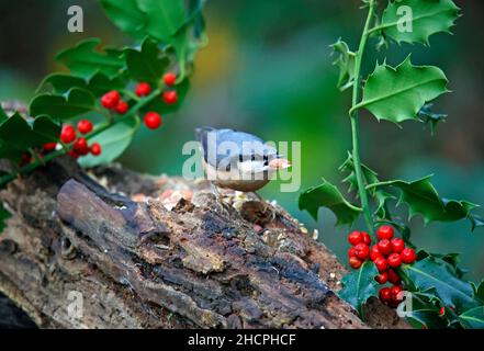
[[[160,89],[156,89],[154,90],[148,97],[146,97],[145,99],[139,100],[136,104],[134,104],[130,111],[126,112],[126,114],[124,114],[121,118],[114,120],[114,121],[109,121],[104,124],[98,125],[94,131],[89,134],[88,136],[86,136],[86,139],[92,139],[94,136],[105,132],[106,129],[109,129],[110,127],[112,127],[113,125],[132,117],[133,115],[136,115],[138,113],[138,111],[140,109],[143,109],[144,106],[146,106],[148,103],[150,103],[151,101],[154,101],[155,99],[159,98],[161,93]],[[139,120],[139,117],[138,117]],[[136,128],[139,128],[140,123],[137,123]],[[59,156],[66,155],[67,152],[69,152],[72,149],[72,146],[70,145],[64,145],[63,144],[63,148],[60,150],[50,152],[45,155],[43,158],[35,158],[35,160],[24,167],[21,167],[16,170],[14,170],[11,173],[8,173],[3,177],[0,177],[0,188],[2,188],[3,185],[5,185],[7,183],[11,182],[12,180],[14,180],[18,176],[21,174],[26,174],[32,172],[33,170],[35,170],[37,167],[41,166],[45,166],[46,163],[48,163],[49,161],[56,159]]]

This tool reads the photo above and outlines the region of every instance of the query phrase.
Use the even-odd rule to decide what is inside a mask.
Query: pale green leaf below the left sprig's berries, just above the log
[[[139,127],[139,120],[137,116],[126,116],[122,121],[100,133],[89,140],[99,143],[102,148],[100,156],[88,155],[79,159],[82,167],[94,167],[99,165],[106,165],[120,157],[133,140],[133,136]]]

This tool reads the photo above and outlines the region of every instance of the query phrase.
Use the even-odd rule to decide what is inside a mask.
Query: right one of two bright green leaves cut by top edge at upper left
[[[182,0],[137,0],[137,4],[146,15],[146,33],[161,42],[171,43],[171,37],[185,23]]]

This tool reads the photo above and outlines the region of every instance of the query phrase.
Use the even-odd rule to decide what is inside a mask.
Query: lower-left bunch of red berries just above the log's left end
[[[92,123],[88,120],[81,120],[77,124],[77,132],[81,135],[86,135],[92,132]],[[63,126],[63,131],[60,132],[60,141],[66,145],[72,144],[72,149],[69,151],[69,155],[75,159],[78,159],[80,156],[86,156],[89,152],[93,156],[101,155],[101,145],[98,143],[92,143],[91,146],[88,145],[88,140],[82,136],[77,136],[76,128],[70,124],[66,124]],[[56,143],[49,143],[44,145],[44,150],[55,149],[57,147]]]

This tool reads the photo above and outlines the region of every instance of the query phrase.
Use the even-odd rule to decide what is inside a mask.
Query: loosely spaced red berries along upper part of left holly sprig
[[[172,72],[168,72],[162,77],[162,80],[167,87],[171,87],[177,81],[177,76]],[[139,98],[147,97],[150,92],[151,87],[147,82],[139,82],[135,88],[135,93]],[[166,104],[173,104],[178,101],[178,93],[175,90],[167,90],[162,93],[161,98]],[[130,109],[128,103],[122,100],[120,92],[115,90],[102,95],[101,104],[105,109],[113,110],[119,114],[124,114]],[[161,125],[161,116],[157,112],[147,112],[143,120],[149,129],[157,129]]]

